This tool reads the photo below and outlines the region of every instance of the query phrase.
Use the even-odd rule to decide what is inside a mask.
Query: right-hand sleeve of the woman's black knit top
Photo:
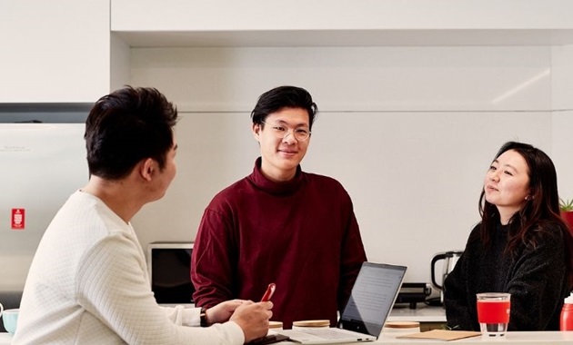
[[[539,232],[538,245],[519,255],[506,291],[511,293],[508,330],[547,330],[563,299],[567,277],[563,234]]]

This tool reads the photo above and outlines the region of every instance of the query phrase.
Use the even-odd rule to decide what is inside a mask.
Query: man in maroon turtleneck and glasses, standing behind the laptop
[[[302,88],[262,94],[251,113],[261,157],[253,173],[206,207],[192,258],[200,307],[259,301],[276,283],[272,320],[327,319],[334,326],[363,261],[352,201],[336,180],[304,173],[317,104]]]

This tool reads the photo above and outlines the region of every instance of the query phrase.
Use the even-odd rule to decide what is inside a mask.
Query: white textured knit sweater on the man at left
[[[13,344],[244,342],[235,322],[188,327],[198,324],[198,309],[157,305],[131,224],[75,192],[35,252]]]

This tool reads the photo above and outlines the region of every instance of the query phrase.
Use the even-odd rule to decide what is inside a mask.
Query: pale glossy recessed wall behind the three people
[[[429,281],[436,252],[463,249],[499,146],[559,144],[553,123],[571,120],[551,112],[551,64],[548,46],[132,48],[131,83],[182,114],[176,181],[134,220],[140,240],[195,238],[207,202],[252,170],[256,98],[295,84],[320,110],[303,169],[345,185],[370,261]]]

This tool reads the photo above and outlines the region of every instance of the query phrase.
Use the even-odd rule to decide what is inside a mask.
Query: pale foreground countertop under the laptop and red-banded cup
[[[12,335],[0,333],[0,345],[10,345]],[[441,341],[441,340],[398,340],[394,337],[380,337],[372,344],[385,345],[403,345],[403,344],[436,344],[436,343],[463,343],[463,344],[510,344],[510,345],[554,345],[554,344],[572,344],[573,331],[514,331],[508,332],[502,338],[474,337],[462,340]],[[283,342],[291,344],[290,341]],[[357,342],[348,344],[360,344]]]

